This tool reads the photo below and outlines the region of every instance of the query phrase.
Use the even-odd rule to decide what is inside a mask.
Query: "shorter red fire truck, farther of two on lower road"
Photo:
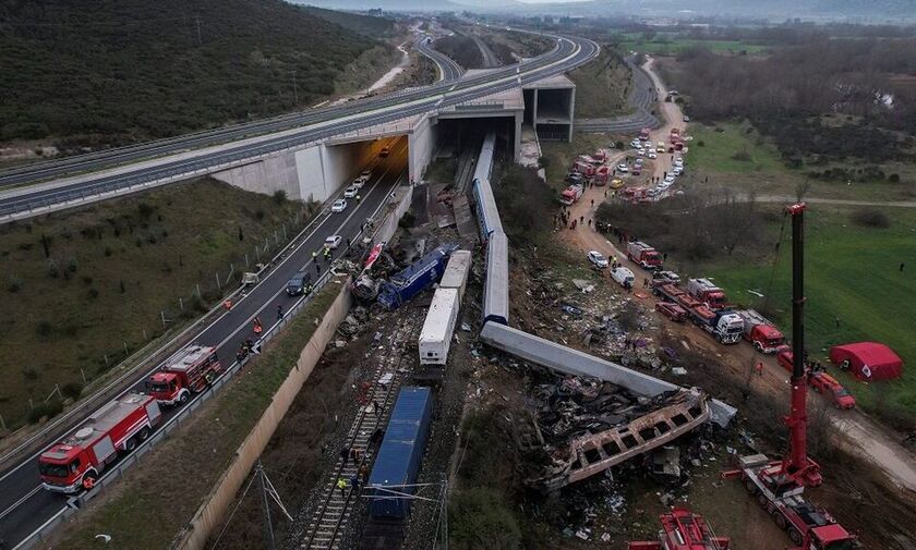
[[[221,372],[216,347],[195,344],[166,359],[146,387],[160,405],[186,403],[192,393],[204,391]]]

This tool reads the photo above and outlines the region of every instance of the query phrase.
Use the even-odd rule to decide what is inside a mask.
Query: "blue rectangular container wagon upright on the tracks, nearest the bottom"
[[[369,511],[374,520],[403,520],[410,511],[410,499],[391,491],[413,492],[403,486],[417,482],[432,412],[433,394],[429,388],[406,387],[398,393],[366,486],[373,494]]]

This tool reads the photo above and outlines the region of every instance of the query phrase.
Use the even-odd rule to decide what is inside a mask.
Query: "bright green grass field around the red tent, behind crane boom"
[[[887,209],[887,229],[861,228],[853,223],[852,209],[812,205],[806,215],[805,284],[806,343],[812,357],[822,358],[830,346],[873,340],[890,345],[909,368],[903,379],[872,384],[842,376],[842,381],[866,407],[875,408],[876,394],[883,392],[888,405],[916,413],[916,210]],[[770,228],[779,234],[779,222]],[[785,229],[782,257],[775,271],[767,260],[723,261],[704,272],[728,291],[732,300],[760,305],[749,291],[770,296],[779,315],[774,319],[790,332],[791,230]],[[901,262],[906,262],[900,272]],[[912,265],[911,265],[912,264]],[[770,285],[771,273],[773,276]],[[836,319],[839,318],[839,327]],[[832,372],[837,372],[832,369]]]

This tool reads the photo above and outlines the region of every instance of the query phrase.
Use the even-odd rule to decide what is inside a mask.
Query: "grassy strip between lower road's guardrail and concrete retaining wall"
[[[61,529],[55,548],[93,548],[98,533],[111,535],[114,548],[169,548],[270,404],[312,338],[314,319],[324,316],[340,289],[339,282],[325,285],[261,357]]]

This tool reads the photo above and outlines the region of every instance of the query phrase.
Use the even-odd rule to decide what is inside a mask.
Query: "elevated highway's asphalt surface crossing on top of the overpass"
[[[190,174],[213,171],[215,167],[225,168],[226,166],[241,164],[251,161],[253,158],[302,146],[334,135],[425,113],[439,107],[461,103],[544,76],[566,72],[589,61],[598,51],[598,45],[590,40],[557,37],[557,47],[540,58],[517,65],[509,65],[489,74],[462,78],[458,82],[444,81],[422,88],[351,101],[328,109],[272,119],[249,125],[232,126],[210,133],[194,134],[183,140],[156,142],[147,146],[128,148],[123,151],[120,149],[112,150],[108,155],[85,162],[81,162],[80,157],[74,157],[73,159],[51,161],[47,164],[26,167],[13,171],[14,173],[0,175],[0,187],[72,173],[74,170],[97,170],[111,164],[148,158],[150,155],[185,151],[185,155],[165,157],[155,161],[147,160],[117,170],[93,172],[87,176],[4,191],[0,193],[0,219],[9,220],[11,219],[10,216],[29,212],[35,208],[60,205],[82,197],[164,179],[174,178],[178,181]],[[280,132],[290,130],[290,127],[299,127],[299,130],[277,136],[265,136],[256,143],[208,146],[186,152],[186,149],[192,147],[238,139],[250,136],[253,132]]]

